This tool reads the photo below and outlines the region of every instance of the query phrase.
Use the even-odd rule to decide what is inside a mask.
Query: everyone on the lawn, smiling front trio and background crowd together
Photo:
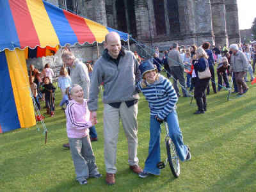
[[[205,42],[200,47],[192,45],[180,50],[179,44],[174,43],[169,51],[164,51],[163,58],[159,58],[157,47],[152,60],[143,61],[137,52],[127,51],[121,46],[118,33],[111,32],[105,37],[104,48],[93,68],[90,64],[84,65],[70,51],[63,52],[61,56],[63,67],[58,77],[58,86],[62,95],[60,106],[65,109],[67,117],[68,137],[68,143],[63,147],[70,148],[76,180],[80,184],[86,184],[91,177],[102,177],[91,145],[92,141],[97,141],[95,125],[98,121],[100,85],[104,86],[102,102],[106,183],[112,185],[115,184],[117,172],[115,164],[120,121],[127,138],[129,168],[141,178],[159,175],[160,170],[156,164],[160,161],[160,125],[163,121],[168,123],[170,138],[179,159],[191,159],[190,148],[184,144],[176,112],[180,97],[179,85],[183,97],[191,97],[193,92],[198,106],[195,111],[197,115],[207,111],[206,97],[210,93],[210,82],[213,92],[218,93],[222,88],[230,88],[228,76],[231,76],[234,92],[243,95],[248,91],[245,83],[247,72],[249,71],[251,80],[254,78],[256,44],[254,47],[232,44],[229,49],[227,45],[222,49],[212,46],[211,49],[211,44]],[[161,75],[163,67],[167,77]],[[215,81],[215,68],[218,83]],[[40,73],[31,65],[29,76],[38,109],[40,97],[45,100],[47,113],[54,116],[56,88],[52,84],[54,73],[51,68],[47,64]],[[150,108],[150,140],[143,169],[138,164],[137,156],[140,92]],[[63,107],[65,104],[66,108]]]

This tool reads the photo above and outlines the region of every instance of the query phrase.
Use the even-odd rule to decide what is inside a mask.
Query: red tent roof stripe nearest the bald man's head
[[[71,28],[76,34],[79,44],[84,44],[84,42],[89,42],[90,44],[92,44],[96,41],[95,36],[93,35],[90,28],[88,28],[83,17],[79,17],[65,10],[63,10],[63,12]]]

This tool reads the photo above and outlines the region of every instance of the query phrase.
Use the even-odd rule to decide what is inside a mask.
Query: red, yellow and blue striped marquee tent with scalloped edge
[[[116,31],[42,0],[0,0],[0,133],[35,125],[24,52],[67,44],[103,42]]]

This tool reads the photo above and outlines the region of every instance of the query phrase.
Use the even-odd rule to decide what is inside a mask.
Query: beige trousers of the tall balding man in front
[[[137,114],[138,103],[127,108],[125,102],[122,102],[118,109],[109,106],[109,104],[104,104],[104,159],[107,173],[116,173],[116,145],[120,119],[128,142],[128,163],[138,165]]]

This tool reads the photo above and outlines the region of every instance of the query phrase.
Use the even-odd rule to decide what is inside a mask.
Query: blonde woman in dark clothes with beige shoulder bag
[[[197,61],[194,63],[194,76],[195,76],[195,92],[194,97],[198,110],[194,114],[201,114],[206,111],[206,95],[205,90],[209,85],[209,79],[211,79],[211,72],[209,70],[209,64],[207,61],[207,53],[202,47],[196,50]]]

